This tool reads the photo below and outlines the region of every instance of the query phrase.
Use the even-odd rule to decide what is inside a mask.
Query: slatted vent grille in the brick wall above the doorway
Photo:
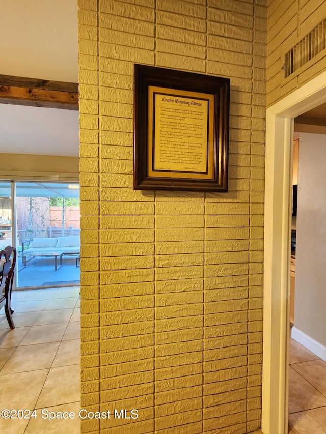
[[[294,45],[286,54],[284,62],[285,78],[309,62],[326,48],[326,19]]]

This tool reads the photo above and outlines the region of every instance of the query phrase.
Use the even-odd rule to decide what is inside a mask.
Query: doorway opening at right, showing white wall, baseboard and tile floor
[[[322,432],[326,417],[324,109],[309,110],[294,123],[288,414],[289,432],[298,434],[307,426]]]

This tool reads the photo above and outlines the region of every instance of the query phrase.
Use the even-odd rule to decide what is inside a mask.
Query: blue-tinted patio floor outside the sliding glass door
[[[35,257],[26,267],[18,257],[18,288],[34,286],[58,286],[80,284],[80,268],[76,267],[76,256],[65,256],[62,265],[58,258],[55,270],[54,257]]]

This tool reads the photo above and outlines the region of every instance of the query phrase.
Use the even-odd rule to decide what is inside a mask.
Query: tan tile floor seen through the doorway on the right
[[[289,364],[289,433],[326,434],[326,362],[291,338]]]

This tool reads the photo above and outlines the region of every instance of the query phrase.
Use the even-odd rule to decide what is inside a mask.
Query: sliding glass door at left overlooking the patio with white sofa
[[[18,252],[16,287],[80,283],[79,185],[0,183],[0,213],[0,246]]]

